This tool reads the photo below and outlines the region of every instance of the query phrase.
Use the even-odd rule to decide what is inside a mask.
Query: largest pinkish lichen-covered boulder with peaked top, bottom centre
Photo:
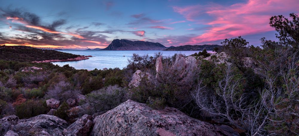
[[[153,110],[145,104],[128,100],[94,121],[91,135],[225,135],[225,130],[190,118],[175,108]]]

